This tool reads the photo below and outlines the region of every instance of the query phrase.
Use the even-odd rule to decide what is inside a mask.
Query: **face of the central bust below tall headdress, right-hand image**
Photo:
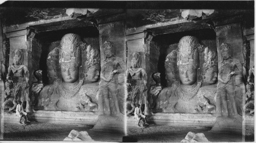
[[[197,81],[197,68],[194,65],[180,65],[180,80],[185,85],[192,85]]]

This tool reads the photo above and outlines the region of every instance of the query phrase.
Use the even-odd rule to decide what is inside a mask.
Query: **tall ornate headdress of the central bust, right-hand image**
[[[194,36],[184,36],[178,44],[177,66],[193,64],[199,67],[198,47],[201,46]]]

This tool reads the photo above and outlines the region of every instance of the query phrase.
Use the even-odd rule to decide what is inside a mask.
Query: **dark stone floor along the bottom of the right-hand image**
[[[150,125],[146,128],[130,127],[127,130],[129,138],[138,142],[180,142],[186,134],[204,133],[210,142],[242,142],[242,135],[210,132],[211,128],[172,127],[162,125]],[[254,129],[246,129],[245,141],[254,141]]]

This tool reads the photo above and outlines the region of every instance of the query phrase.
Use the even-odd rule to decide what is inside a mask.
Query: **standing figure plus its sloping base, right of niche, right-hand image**
[[[236,98],[238,96],[242,97],[243,90],[245,90],[242,82],[243,67],[239,60],[232,57],[231,45],[222,43],[219,51],[222,56],[222,62],[219,67],[219,82],[217,85],[217,119],[211,130],[242,133],[242,116],[239,115],[238,111],[238,107],[241,105],[236,102]],[[240,93],[236,91],[240,91]]]

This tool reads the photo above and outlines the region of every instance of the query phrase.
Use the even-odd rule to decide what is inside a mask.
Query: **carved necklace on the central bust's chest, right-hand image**
[[[196,88],[188,91],[187,89],[182,89],[180,85],[180,87],[178,87],[177,90],[178,90],[178,94],[180,95],[179,97],[181,97],[181,100],[190,101],[191,99],[193,99],[196,96],[197,92],[199,91],[201,87],[201,83],[202,82],[198,82]]]

